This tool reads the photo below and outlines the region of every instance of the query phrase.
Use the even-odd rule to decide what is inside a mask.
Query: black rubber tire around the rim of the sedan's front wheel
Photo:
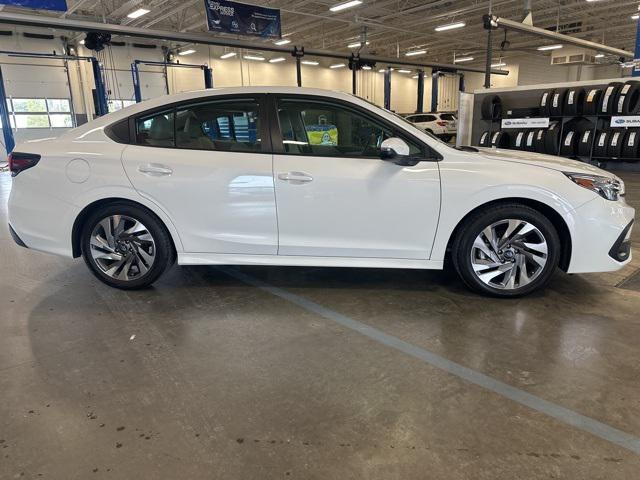
[[[499,289],[487,285],[476,275],[471,254],[475,239],[488,226],[506,219],[524,220],[537,228],[547,242],[546,263],[540,273],[528,284],[513,289]],[[462,281],[472,290],[485,295],[515,298],[543,288],[551,280],[560,260],[560,238],[555,227],[542,213],[519,203],[505,203],[483,208],[471,214],[454,238],[451,260]]]

